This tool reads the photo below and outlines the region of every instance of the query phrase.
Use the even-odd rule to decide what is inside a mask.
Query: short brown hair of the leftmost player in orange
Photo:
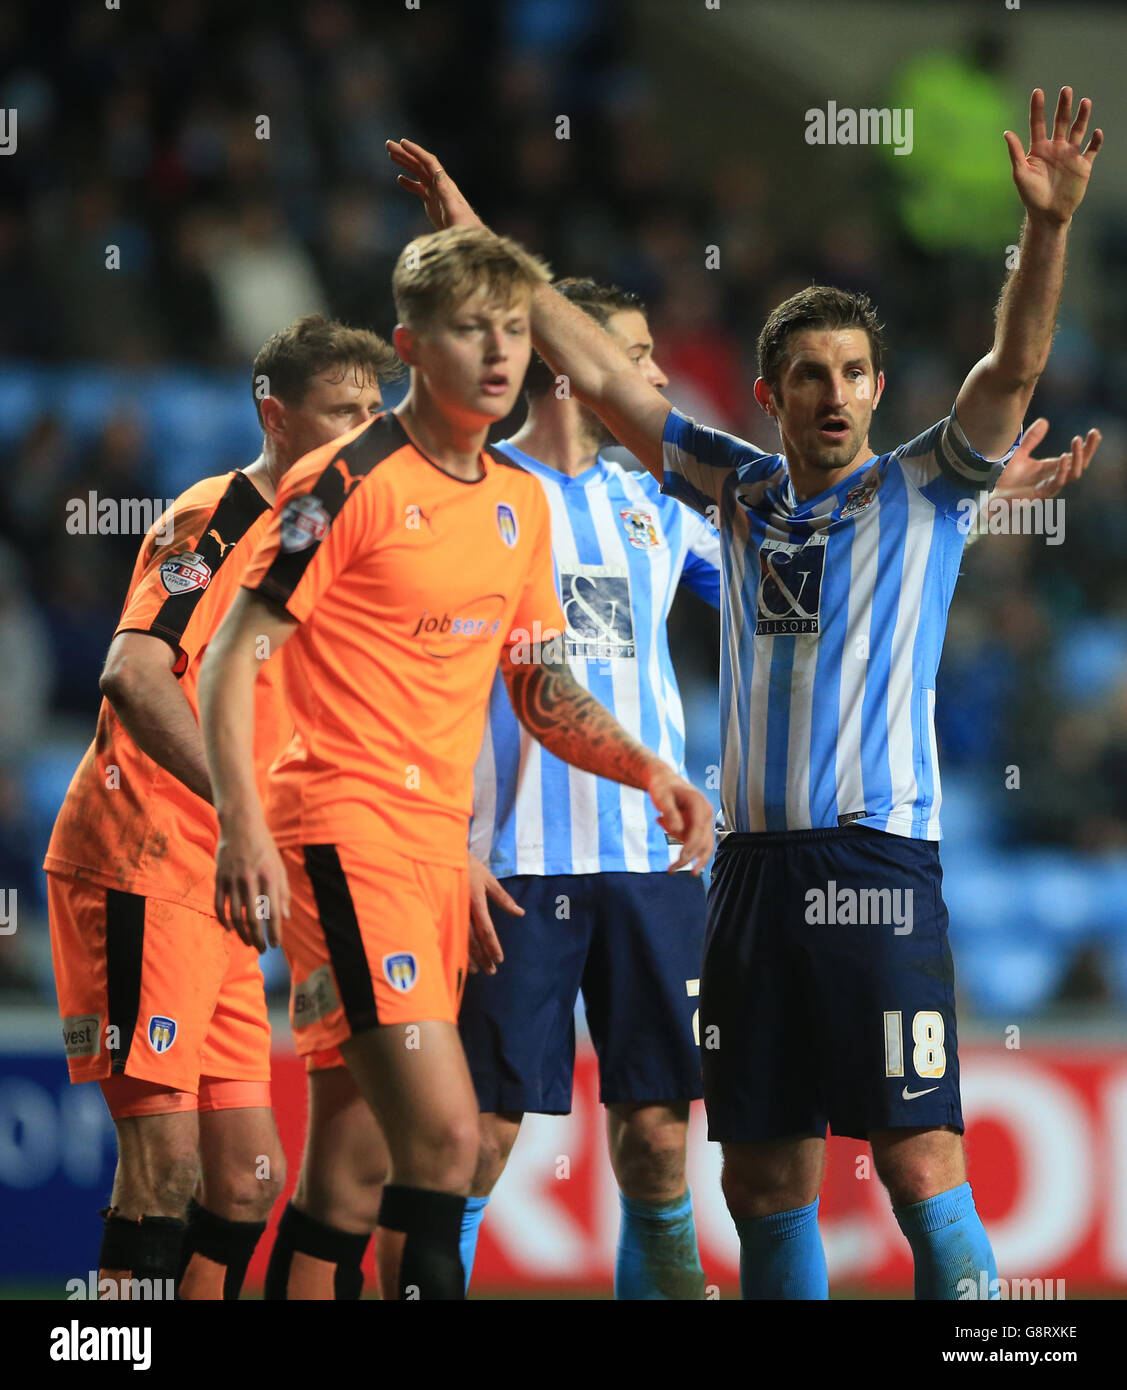
[[[267,338],[252,368],[250,389],[258,424],[263,423],[263,396],[277,396],[288,406],[299,406],[310,381],[327,367],[339,367],[340,378],[349,370],[371,377],[395,378],[403,363],[390,343],[367,328],[349,328],[324,314],[306,314],[289,328]],[[265,378],[265,392],[260,384]]]

